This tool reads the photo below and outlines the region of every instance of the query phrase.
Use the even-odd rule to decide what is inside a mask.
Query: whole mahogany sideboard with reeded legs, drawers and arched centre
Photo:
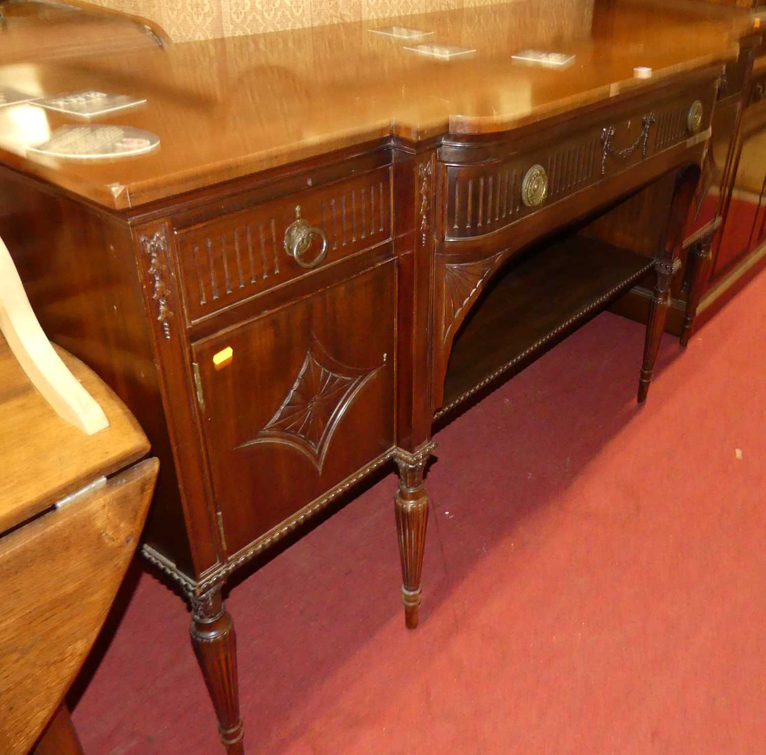
[[[416,626],[434,420],[652,272],[647,396],[679,257],[705,257],[715,230],[684,234],[743,29],[571,5],[396,20],[476,47],[448,62],[369,31],[387,20],[0,69],[17,87],[148,100],[106,123],[155,132],[159,150],[106,164],[33,159],[31,133],[66,120],[0,109],[0,234],[47,334],[162,462],[143,554],[191,603],[230,753],[235,570],[393,460]],[[571,67],[510,60],[553,44]]]

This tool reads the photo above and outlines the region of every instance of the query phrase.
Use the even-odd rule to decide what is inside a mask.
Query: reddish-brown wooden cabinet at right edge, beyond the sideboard
[[[689,0],[673,2],[688,6]],[[666,331],[674,335],[682,334],[687,311],[696,309],[692,314],[699,315],[695,320],[695,327],[699,328],[766,266],[766,106],[763,103],[766,10],[761,0],[694,2],[713,15],[744,15],[750,26],[740,40],[737,60],[724,67],[712,116],[708,175],[692,204],[687,233],[694,234],[702,227],[709,227],[713,221],[718,228],[709,256],[703,260],[705,269],[702,271],[702,291],[698,292],[699,301],[691,304],[689,283],[695,272],[693,264],[687,264],[686,255],[682,253],[682,271],[671,286],[666,322]],[[651,296],[650,280],[640,281],[611,309],[646,322]]]

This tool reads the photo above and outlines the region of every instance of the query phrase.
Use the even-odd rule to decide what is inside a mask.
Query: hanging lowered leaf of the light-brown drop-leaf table
[[[157,475],[149,459],[0,539],[0,740],[25,755],[80,670],[123,579]]]

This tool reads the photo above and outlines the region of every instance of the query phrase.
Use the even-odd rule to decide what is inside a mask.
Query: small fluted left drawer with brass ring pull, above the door
[[[390,191],[386,166],[176,229],[188,319],[210,315],[388,240]],[[293,257],[290,252],[296,247]]]

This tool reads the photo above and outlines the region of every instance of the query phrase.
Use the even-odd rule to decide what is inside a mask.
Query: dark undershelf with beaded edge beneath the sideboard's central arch
[[[653,261],[568,236],[538,247],[487,286],[453,344],[438,419],[501,376],[516,374],[651,270]],[[509,374],[506,374],[509,373]]]

